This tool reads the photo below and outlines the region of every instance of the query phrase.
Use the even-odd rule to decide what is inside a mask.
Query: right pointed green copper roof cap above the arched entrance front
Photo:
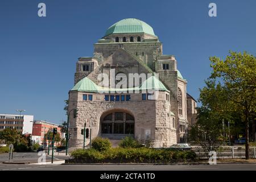
[[[163,85],[163,83],[158,80],[155,76],[151,76],[150,78],[147,78],[146,81],[144,81],[141,86],[141,90],[146,90],[146,89],[156,89],[156,90],[164,90],[168,91],[168,89]]]

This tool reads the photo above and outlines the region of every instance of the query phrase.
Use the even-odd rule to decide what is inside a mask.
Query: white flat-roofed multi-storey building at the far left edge
[[[32,134],[34,115],[0,114],[0,131],[11,128],[22,134]]]

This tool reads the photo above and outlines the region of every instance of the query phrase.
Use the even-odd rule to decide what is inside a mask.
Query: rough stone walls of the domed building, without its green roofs
[[[126,41],[123,42],[125,37]],[[132,37],[132,38],[131,38]],[[138,41],[140,39],[140,41]],[[168,65],[168,66],[167,66]],[[167,69],[168,68],[168,69]],[[114,73],[112,72],[114,69]],[[186,136],[187,120],[187,81],[179,76],[177,71],[177,60],[173,55],[163,55],[162,43],[155,35],[148,35],[144,32],[110,34],[98,40],[94,44],[93,57],[80,57],[76,64],[75,85],[79,84],[84,77],[89,78],[95,84],[101,80],[100,73],[109,76],[109,88],[114,88],[114,81],[111,80],[117,73],[123,73],[129,77],[129,73],[158,73],[159,80],[166,86],[167,90],[159,90],[158,97],[142,100],[142,90],[139,93],[129,93],[129,101],[106,101],[106,93],[86,92],[86,90],[71,90],[69,92],[68,110],[77,109],[77,117],[69,117],[69,131],[71,133],[69,147],[82,147],[83,135],[81,130],[92,129],[92,138],[101,136],[109,138],[124,137],[125,127],[133,127],[129,130],[132,136],[139,140],[152,140],[154,147],[168,147],[180,142],[180,138]],[[129,80],[128,80],[129,81]],[[142,82],[137,82],[133,86],[140,86]],[[181,90],[182,99],[179,101],[177,90]],[[87,95],[91,100],[84,100]],[[111,95],[108,94],[107,95]],[[117,93],[112,93],[116,98]],[[127,93],[123,94],[126,97]],[[182,102],[182,113],[178,111],[178,104]],[[113,113],[113,114],[112,114]],[[114,123],[114,113],[124,113],[124,116],[131,115],[134,124],[127,124],[123,119]],[[106,125],[104,119],[109,116]],[[116,119],[116,118],[115,118]],[[127,119],[127,118],[126,118]],[[131,122],[131,121],[127,121]],[[113,125],[112,125],[113,123]],[[180,130],[180,125],[184,125],[185,130]],[[109,127],[109,134],[102,128]],[[121,127],[121,129],[119,128]],[[120,132],[123,129],[123,135]],[[115,131],[116,130],[116,131]],[[113,135],[111,135],[111,134]],[[89,140],[86,140],[88,144]],[[182,140],[184,142],[184,140]]]

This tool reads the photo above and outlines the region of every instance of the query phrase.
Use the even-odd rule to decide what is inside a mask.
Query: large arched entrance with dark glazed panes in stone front
[[[101,117],[101,135],[104,137],[134,136],[134,117],[123,112],[114,111]]]

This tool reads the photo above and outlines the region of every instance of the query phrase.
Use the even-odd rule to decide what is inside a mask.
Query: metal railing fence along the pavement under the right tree
[[[192,148],[192,151],[200,159],[208,159],[208,155],[205,154],[203,148]],[[223,147],[216,151],[217,159],[242,159],[245,158],[245,147]],[[250,158],[256,159],[256,147],[250,147]]]

